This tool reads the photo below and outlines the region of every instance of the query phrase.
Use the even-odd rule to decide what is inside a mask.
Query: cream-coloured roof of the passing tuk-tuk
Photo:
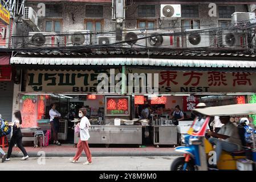
[[[193,109],[204,115],[249,115],[256,114],[256,104],[234,104],[226,106],[205,107]]]

